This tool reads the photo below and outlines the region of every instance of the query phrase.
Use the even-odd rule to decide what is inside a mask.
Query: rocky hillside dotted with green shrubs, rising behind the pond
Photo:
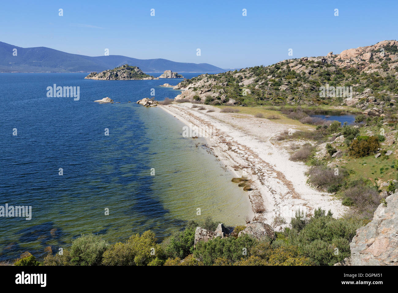
[[[348,49],[340,54],[288,59],[269,66],[203,74],[179,83],[179,99],[206,104],[349,105],[364,114],[396,108],[398,42]]]

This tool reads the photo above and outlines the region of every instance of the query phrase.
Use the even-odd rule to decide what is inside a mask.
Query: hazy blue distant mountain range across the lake
[[[16,56],[13,55],[17,49]],[[167,59],[136,59],[120,55],[90,57],[70,54],[47,47],[22,48],[0,42],[0,72],[93,72],[119,67],[137,66],[144,72],[205,72],[225,70],[208,63],[184,63]]]

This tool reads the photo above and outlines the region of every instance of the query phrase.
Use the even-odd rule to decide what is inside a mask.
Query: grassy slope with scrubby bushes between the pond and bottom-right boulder
[[[300,109],[285,113],[301,117]],[[351,213],[367,223],[380,202],[398,188],[398,160],[394,155],[397,122],[390,114],[362,115],[356,120],[355,125],[335,121],[318,125],[315,130],[284,132],[275,140],[291,141],[290,148],[295,152],[290,159],[310,165],[308,183],[334,193],[343,205],[351,207]],[[307,143],[300,147],[296,140]]]

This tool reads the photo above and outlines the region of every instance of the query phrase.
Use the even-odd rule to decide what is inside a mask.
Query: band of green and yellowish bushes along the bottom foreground
[[[198,242],[195,229],[214,231],[217,222],[190,220],[185,229],[158,244],[153,232],[135,234],[126,242],[107,243],[101,236],[85,234],[72,241],[62,255],[48,254],[40,263],[32,255],[15,265],[333,265],[350,254],[349,242],[361,226],[355,218],[333,218],[320,208],[311,218],[293,218],[289,228],[276,232],[275,240],[238,237],[237,226],[229,237]]]

